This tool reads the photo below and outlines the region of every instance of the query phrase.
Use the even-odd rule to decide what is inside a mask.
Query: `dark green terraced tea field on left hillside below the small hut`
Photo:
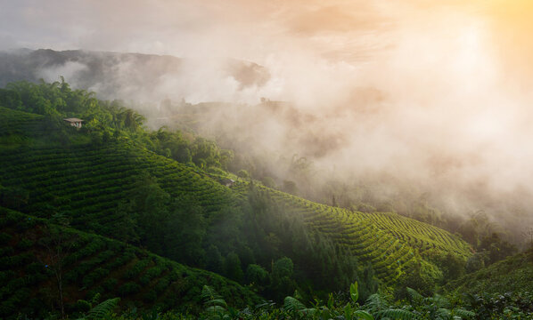
[[[53,204],[71,213],[74,227],[106,236],[113,234],[117,205],[143,171],[157,178],[170,196],[193,195],[208,214],[235,202],[229,188],[207,175],[127,143],[0,148],[0,164],[0,185],[29,192],[25,212],[45,212]]]

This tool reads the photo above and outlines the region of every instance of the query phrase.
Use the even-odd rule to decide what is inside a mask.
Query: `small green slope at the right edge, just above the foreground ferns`
[[[515,254],[446,285],[468,293],[533,292],[533,250]]]

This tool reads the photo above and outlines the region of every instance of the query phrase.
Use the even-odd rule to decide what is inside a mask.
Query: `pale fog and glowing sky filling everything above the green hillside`
[[[116,1],[84,5],[88,18],[69,32],[53,33],[58,14],[80,10],[71,4],[9,26],[4,17],[0,44],[49,47],[24,22],[44,17],[52,49],[86,51],[39,60],[34,78],[143,104],[150,124],[179,122],[161,114],[163,100],[225,102],[196,129],[262,156],[277,180],[298,180],[280,158],[305,156],[313,184],[301,188],[338,180],[384,198],[413,188],[449,214],[487,212],[516,235],[532,226],[528,1],[139,1],[124,17]]]

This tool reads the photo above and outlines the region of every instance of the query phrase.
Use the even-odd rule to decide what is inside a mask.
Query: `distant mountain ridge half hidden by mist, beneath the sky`
[[[242,60],[193,60],[169,55],[82,50],[18,49],[0,52],[0,87],[13,81],[60,76],[75,88],[98,92],[100,98],[146,100],[186,98],[191,79],[234,82],[236,90],[262,86],[270,79],[265,67]],[[200,78],[199,78],[200,77]],[[213,80],[214,79],[214,80]],[[142,98],[142,99],[140,99]]]

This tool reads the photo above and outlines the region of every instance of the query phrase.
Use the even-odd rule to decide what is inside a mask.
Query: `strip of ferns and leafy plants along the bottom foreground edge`
[[[392,303],[389,297],[374,293],[364,305],[360,300],[357,283],[351,284],[348,300],[338,300],[330,294],[327,300],[314,300],[306,303],[299,292],[287,296],[280,306],[265,301],[254,307],[237,309],[229,306],[224,298],[209,285],[201,290],[203,308],[199,315],[189,313],[139,312],[136,309],[117,310],[119,298],[83,304],[85,311],[78,311],[84,319],[529,319],[531,316],[531,296],[510,300],[509,295],[500,297],[470,299],[471,303],[463,306],[461,300],[452,300],[439,294],[424,297],[419,292],[407,288],[407,300]],[[97,297],[99,298],[99,297]]]

